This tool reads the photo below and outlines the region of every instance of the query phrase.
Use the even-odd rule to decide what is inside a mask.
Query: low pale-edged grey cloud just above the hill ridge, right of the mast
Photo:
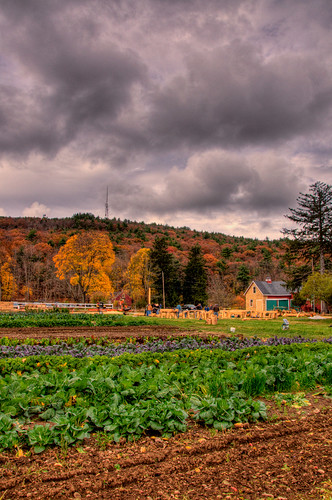
[[[272,152],[244,155],[215,149],[193,155],[184,169],[173,168],[157,188],[138,176],[111,189],[116,203],[130,199],[131,207],[145,214],[248,210],[269,216],[295,202],[304,186],[300,174]]]

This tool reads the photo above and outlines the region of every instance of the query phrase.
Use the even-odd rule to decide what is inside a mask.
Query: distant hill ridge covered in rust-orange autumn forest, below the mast
[[[63,245],[67,238],[81,231],[107,232],[120,251],[124,245],[129,253],[135,249],[151,247],[158,236],[168,241],[169,250],[178,257],[186,255],[194,245],[200,245],[203,254],[226,260],[250,261],[257,251],[266,259],[280,258],[284,253],[285,239],[259,240],[243,236],[229,236],[219,232],[198,231],[189,227],[172,227],[157,223],[145,223],[117,218],[103,219],[90,213],[78,213],[72,217],[0,217],[0,230],[11,233],[16,230],[27,241],[36,244],[45,242],[53,248]],[[7,233],[7,238],[10,235]],[[14,237],[14,234],[12,235]],[[61,236],[59,238],[59,236]],[[265,250],[264,250],[265,249]],[[256,255],[259,258],[259,255]],[[180,258],[180,260],[182,260]]]

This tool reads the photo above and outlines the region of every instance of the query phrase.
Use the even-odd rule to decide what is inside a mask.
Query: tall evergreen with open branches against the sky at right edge
[[[317,256],[320,272],[325,270],[325,256],[332,254],[332,186],[324,182],[312,184],[309,193],[300,193],[298,207],[290,208],[286,217],[299,227],[283,229],[298,243],[297,250],[306,258]]]

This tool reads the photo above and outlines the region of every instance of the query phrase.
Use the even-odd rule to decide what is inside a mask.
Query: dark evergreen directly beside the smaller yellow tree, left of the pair
[[[181,269],[173,255],[167,251],[167,238],[156,237],[151,254],[155,300],[162,304],[163,288],[165,290],[166,306],[174,307],[181,296]]]

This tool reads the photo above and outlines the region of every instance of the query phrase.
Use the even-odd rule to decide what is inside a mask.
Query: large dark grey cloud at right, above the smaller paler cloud
[[[277,142],[324,126],[330,75],[309,57],[269,62],[242,43],[191,54],[184,75],[153,97],[151,131],[160,145]]]

